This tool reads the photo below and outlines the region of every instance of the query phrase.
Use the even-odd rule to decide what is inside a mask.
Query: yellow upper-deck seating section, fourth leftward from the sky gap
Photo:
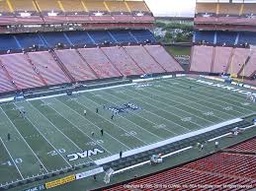
[[[84,12],[86,11],[80,0],[60,0],[65,12]]]

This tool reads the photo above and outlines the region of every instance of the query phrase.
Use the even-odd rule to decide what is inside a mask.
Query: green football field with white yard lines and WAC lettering
[[[124,107],[128,102],[134,109],[125,108],[128,112],[120,112],[112,120],[109,107]],[[26,114],[21,115],[20,110]],[[0,185],[103,159],[255,112],[256,104],[246,96],[186,77],[3,103]],[[94,149],[104,153],[73,160],[68,157]]]

